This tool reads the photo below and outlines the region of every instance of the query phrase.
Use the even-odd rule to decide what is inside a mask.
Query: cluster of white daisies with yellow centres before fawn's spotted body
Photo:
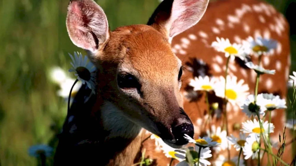
[[[218,155],[217,160],[213,163],[215,165],[243,165],[244,160],[240,160],[241,155],[244,159],[249,158],[257,159],[260,154],[261,139],[267,149],[276,147],[275,143],[269,138],[269,134],[274,132],[275,126],[270,122],[271,113],[276,109],[287,109],[286,100],[281,99],[280,96],[272,93],[260,93],[258,94],[258,83],[260,75],[262,74],[275,74],[275,70],[265,69],[260,65],[262,56],[270,56],[273,54],[274,49],[277,47],[277,42],[273,39],[265,39],[262,37],[252,38],[248,37],[242,41],[242,44],[231,44],[229,39],[218,38],[217,41],[212,43],[212,47],[218,52],[225,53],[227,58],[226,64],[226,76],[209,77],[199,76],[191,79],[189,86],[193,87],[193,91],[204,91],[206,94],[215,92],[217,97],[226,99],[232,105],[237,104],[240,106],[242,112],[252,120],[242,122],[239,137],[235,137],[233,134],[227,136],[226,130],[221,130],[221,127],[211,126],[210,130],[206,130],[207,136],[198,137],[193,139],[185,134],[184,138],[189,143],[195,144],[194,147],[187,149],[174,149],[165,144],[160,137],[153,136],[156,139],[157,145],[163,150],[165,156],[179,160],[180,165],[211,165],[207,160],[212,155],[210,154],[213,149],[215,152],[221,150],[229,150],[233,147],[240,151],[239,155],[233,158],[226,159],[222,155]],[[247,57],[254,55],[259,59],[258,64],[247,62]],[[255,94],[250,94],[249,87],[244,83],[244,80],[237,80],[236,76],[227,75],[228,63],[230,60],[234,60],[236,57],[243,60],[245,66],[252,69],[257,73]],[[294,86],[296,83],[296,72],[293,72],[294,76],[290,76],[289,84]],[[294,86],[295,87],[295,86]],[[206,95],[206,98],[208,96]],[[207,104],[208,99],[206,99]],[[208,107],[210,109],[210,106]],[[224,107],[225,108],[225,107]],[[226,110],[223,110],[226,111]],[[269,116],[269,120],[266,121],[266,115]],[[225,115],[224,115],[225,116]],[[227,118],[226,118],[227,120]],[[293,128],[296,122],[293,119],[287,121],[286,126]],[[223,128],[224,129],[224,128]],[[271,152],[272,153],[272,152]]]

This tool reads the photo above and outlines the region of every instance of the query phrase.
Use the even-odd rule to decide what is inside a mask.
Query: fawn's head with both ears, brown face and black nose
[[[207,4],[208,0],[164,0],[148,25],[111,32],[104,11],[93,0],[70,1],[67,31],[98,68],[97,92],[104,101],[99,109],[106,130],[130,137],[132,131],[120,131],[116,125],[145,128],[176,148],[187,143],[184,134],[193,137],[179,92],[181,60],[170,42],[201,19]]]

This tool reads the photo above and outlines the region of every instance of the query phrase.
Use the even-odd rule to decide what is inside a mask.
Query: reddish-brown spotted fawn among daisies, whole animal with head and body
[[[259,86],[259,92],[285,98],[290,49],[284,17],[271,5],[255,0],[207,4],[207,0],[164,0],[147,25],[110,32],[103,10],[94,1],[70,1],[67,30],[72,42],[85,49],[98,68],[97,93],[84,103],[90,90],[83,86],[75,96],[59,136],[56,165],[132,165],[144,148],[154,165],[168,165],[171,159],[149,136],[153,133],[172,147],[183,147],[184,134],[194,133],[196,138],[205,132],[205,95],[192,91],[188,83],[198,75],[224,75],[226,58],[210,47],[217,36],[231,42],[258,35],[278,40],[274,55],[262,60],[263,67],[275,68],[276,74],[260,78],[264,86]],[[257,62],[253,57],[250,60]],[[229,75],[243,79],[253,93],[255,72],[243,64],[232,62]],[[183,75],[181,65],[187,69]],[[135,82],[125,83],[126,76]],[[209,101],[221,103],[214,96]],[[232,126],[247,116],[239,106],[228,104],[227,111],[229,133],[237,135]],[[271,136],[277,138],[285,113],[274,112],[276,130]],[[221,117],[213,116],[212,122],[221,126]],[[237,155],[236,151],[231,150],[231,155]]]

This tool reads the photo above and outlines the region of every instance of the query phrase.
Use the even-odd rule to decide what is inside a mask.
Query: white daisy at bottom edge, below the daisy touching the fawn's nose
[[[212,157],[212,154],[211,154],[212,151],[210,150],[209,147],[202,148],[200,150],[200,157],[198,157],[198,152],[199,152],[200,148],[202,148],[202,147],[195,146],[194,150],[189,151],[189,153],[192,157],[192,161],[190,161],[190,163],[194,163],[194,166],[211,165],[211,163],[205,159]],[[188,161],[187,156],[186,156],[186,160]],[[176,166],[188,166],[188,162],[186,160],[184,159],[183,161],[179,162]],[[199,165],[197,165],[198,160],[200,162]]]

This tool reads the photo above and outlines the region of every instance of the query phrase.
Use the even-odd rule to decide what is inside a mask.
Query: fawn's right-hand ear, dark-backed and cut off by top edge
[[[189,29],[205,14],[209,0],[164,0],[156,8],[147,25],[164,33],[169,41]]]

